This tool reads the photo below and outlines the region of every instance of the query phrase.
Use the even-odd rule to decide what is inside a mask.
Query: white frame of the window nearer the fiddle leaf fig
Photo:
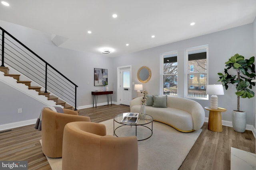
[[[192,47],[192,48],[188,48],[188,49],[185,49],[185,57],[186,57],[186,60],[185,60],[185,68],[189,68],[189,69],[186,69],[186,76],[185,76],[185,97],[186,98],[191,98],[191,99],[200,99],[200,100],[209,100],[209,96],[207,94],[206,98],[202,98],[202,97],[194,97],[194,96],[188,96],[188,75],[190,74],[190,65],[188,65],[188,53],[190,51],[197,51],[197,50],[203,50],[203,49],[206,49],[206,68],[207,68],[207,78],[206,78],[206,84],[208,84],[209,82],[209,47],[208,45],[202,45],[202,46],[198,46],[198,47]]]

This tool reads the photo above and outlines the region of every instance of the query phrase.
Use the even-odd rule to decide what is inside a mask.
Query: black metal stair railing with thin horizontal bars
[[[78,86],[66,78],[56,68],[44,61],[31,49],[0,27],[0,50],[2,65],[7,64],[24,74],[40,86],[74,106],[76,110],[76,88]]]

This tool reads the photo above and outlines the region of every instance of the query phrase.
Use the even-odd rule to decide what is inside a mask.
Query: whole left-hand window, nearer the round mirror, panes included
[[[177,95],[178,62],[177,52],[164,53],[162,56],[162,94]]]

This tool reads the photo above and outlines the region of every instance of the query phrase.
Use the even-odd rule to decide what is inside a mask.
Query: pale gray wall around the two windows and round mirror
[[[170,43],[144,51],[123,55],[113,59],[115,67],[132,65],[132,82],[140,83],[137,79],[137,71],[141,66],[148,66],[151,69],[152,77],[149,82],[143,83],[143,90],[149,94],[160,94],[160,54],[170,51],[178,51],[178,96],[184,97],[185,80],[185,49],[201,45],[209,46],[209,84],[220,84],[218,82],[218,72],[224,72],[225,62],[236,53],[252,57],[255,53],[253,49],[253,25],[243,25],[240,27],[203,35],[176,43]],[[139,37],[138,37],[139,38]],[[116,76],[114,76],[116,77]],[[134,86],[132,87],[134,88]],[[232,121],[231,112],[236,109],[236,95],[234,87],[224,91],[225,95],[219,97],[219,107],[227,109],[222,113],[222,120]],[[132,97],[136,97],[136,91],[132,90]],[[209,100],[196,100],[203,107],[209,106]],[[255,98],[241,99],[240,110],[246,111],[247,124],[253,125]],[[208,111],[206,111],[208,117]]]

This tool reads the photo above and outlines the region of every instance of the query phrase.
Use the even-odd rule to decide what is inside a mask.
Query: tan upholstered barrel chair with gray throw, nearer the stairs
[[[62,157],[64,127],[73,121],[90,121],[90,117],[79,116],[77,111],[63,109],[57,113],[49,108],[42,110],[42,150],[48,157]]]

